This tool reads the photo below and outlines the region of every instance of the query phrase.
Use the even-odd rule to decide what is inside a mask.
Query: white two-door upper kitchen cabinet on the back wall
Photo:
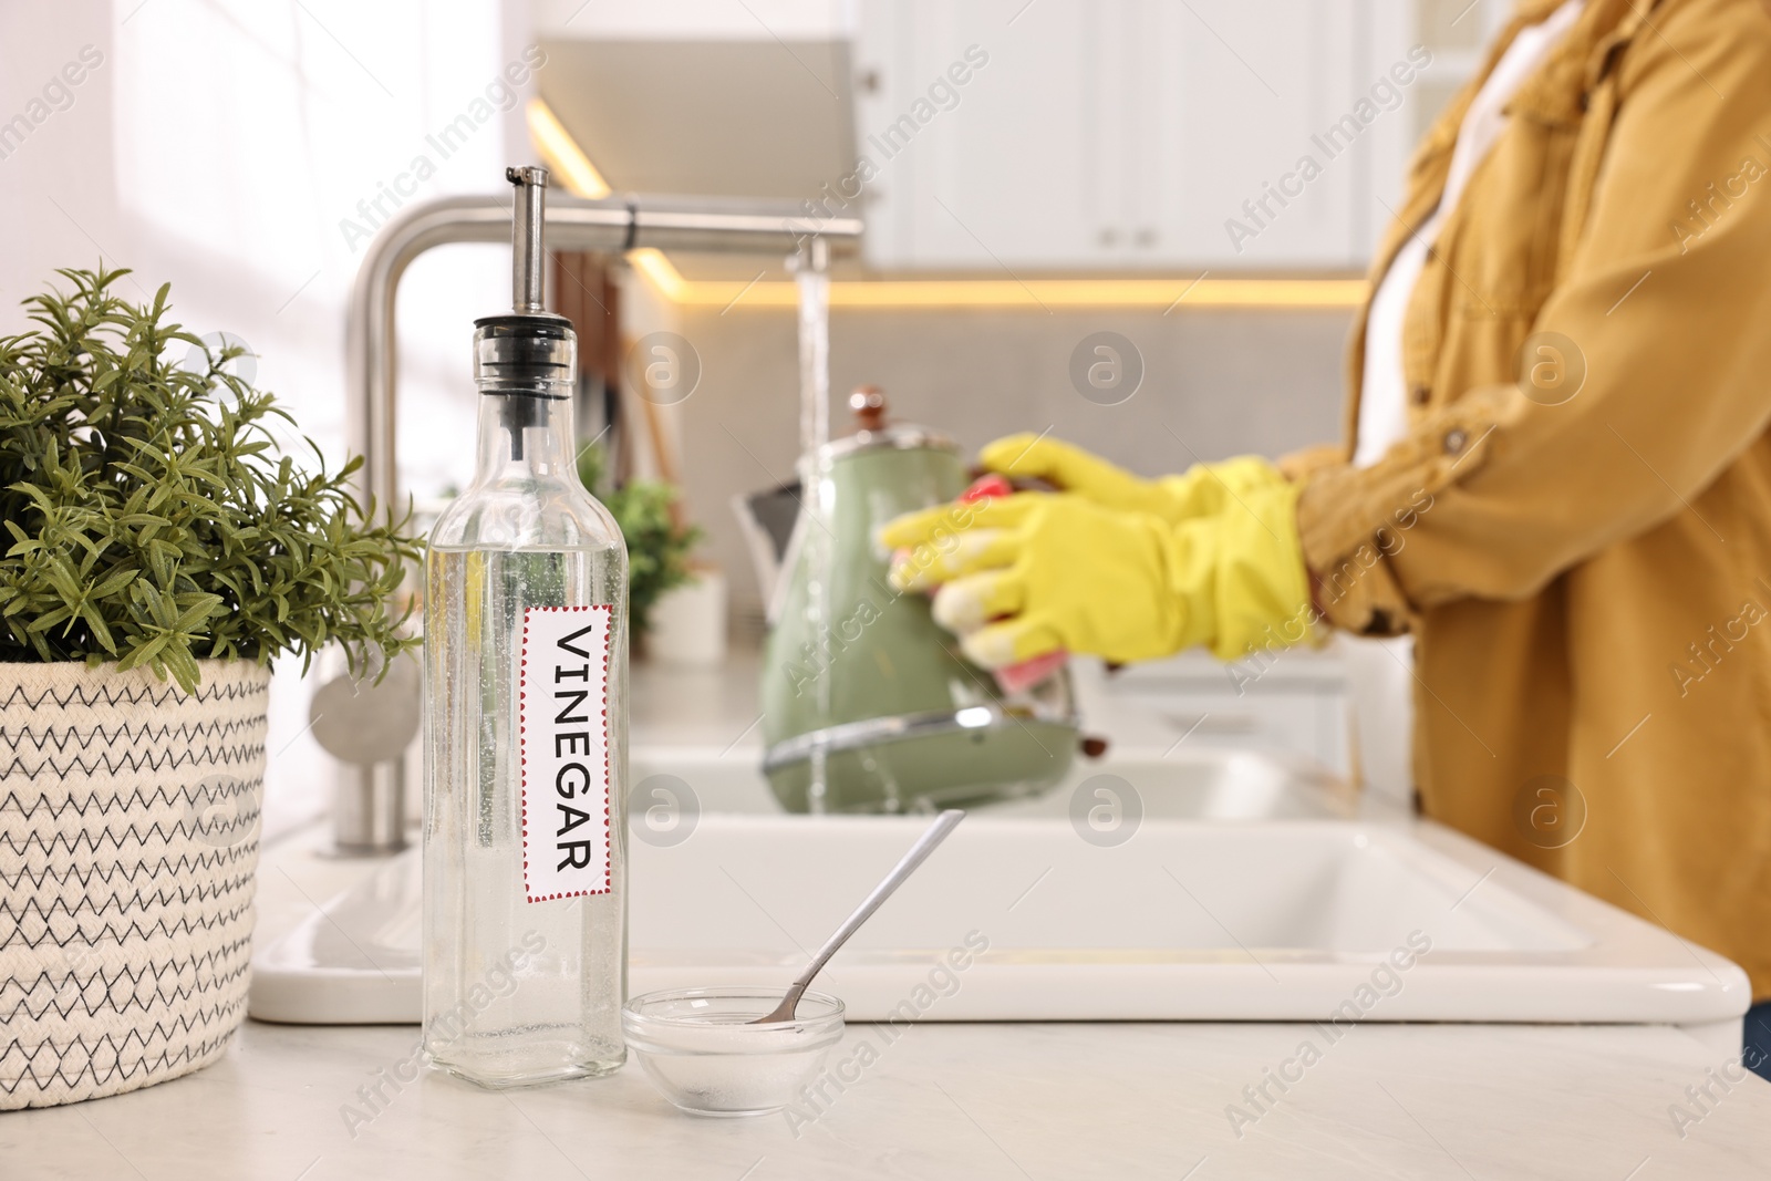
[[[1411,28],[1403,0],[864,0],[870,262],[1360,267],[1411,135],[1406,87],[1360,101]],[[1350,145],[1325,140],[1365,112]],[[1288,182],[1305,156],[1318,170]]]

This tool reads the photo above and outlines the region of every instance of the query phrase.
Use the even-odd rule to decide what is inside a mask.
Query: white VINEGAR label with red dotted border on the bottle
[[[531,903],[609,892],[609,641],[600,607],[528,607],[517,728],[522,892]]]

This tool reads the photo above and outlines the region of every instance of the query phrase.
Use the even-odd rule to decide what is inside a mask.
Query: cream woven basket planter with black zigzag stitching
[[[177,1078],[246,1015],[267,669],[0,664],[0,1108]]]

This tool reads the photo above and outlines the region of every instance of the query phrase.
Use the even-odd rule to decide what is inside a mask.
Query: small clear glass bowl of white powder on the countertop
[[[785,988],[668,988],[622,1009],[627,1046],[659,1092],[692,1115],[779,1112],[816,1078],[843,1038],[843,1002],[822,992],[795,1020],[751,1025]]]

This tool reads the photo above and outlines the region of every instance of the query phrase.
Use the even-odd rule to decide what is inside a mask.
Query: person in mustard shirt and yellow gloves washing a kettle
[[[1426,814],[1771,999],[1767,174],[1762,0],[1525,0],[1415,156],[1346,446],[1148,483],[1004,439],[1063,492],[893,522],[894,577],[985,664],[1408,632]]]

